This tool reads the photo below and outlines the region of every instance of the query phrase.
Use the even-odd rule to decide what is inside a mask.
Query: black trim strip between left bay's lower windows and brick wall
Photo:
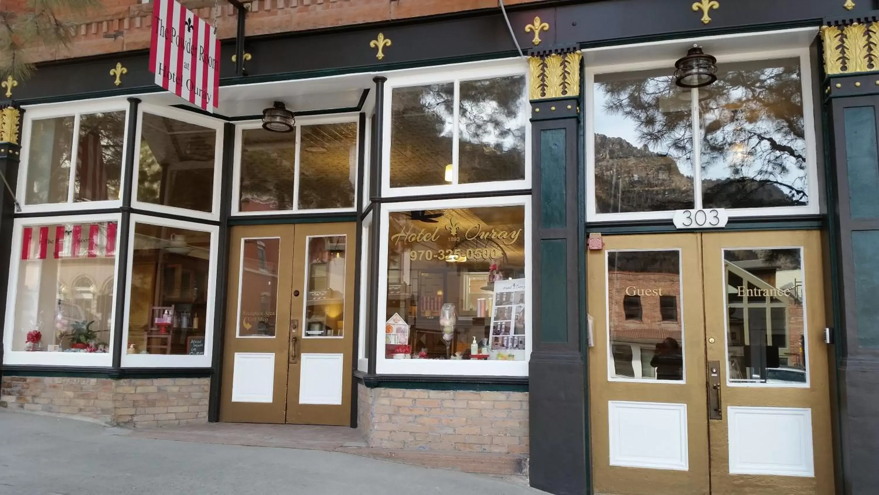
[[[6,365],[4,376],[61,376],[69,378],[210,378],[211,368],[90,368],[81,366]]]

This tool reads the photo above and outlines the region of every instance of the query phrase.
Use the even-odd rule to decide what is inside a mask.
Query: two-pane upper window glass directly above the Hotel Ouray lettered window
[[[525,178],[524,75],[396,87],[390,101],[391,187]]]

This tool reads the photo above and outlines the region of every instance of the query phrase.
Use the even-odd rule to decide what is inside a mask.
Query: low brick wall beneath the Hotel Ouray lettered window
[[[359,426],[370,447],[528,454],[528,394],[367,389]]]

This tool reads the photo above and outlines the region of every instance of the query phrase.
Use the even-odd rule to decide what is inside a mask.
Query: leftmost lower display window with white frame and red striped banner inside
[[[5,364],[110,366],[119,215],[15,221]]]

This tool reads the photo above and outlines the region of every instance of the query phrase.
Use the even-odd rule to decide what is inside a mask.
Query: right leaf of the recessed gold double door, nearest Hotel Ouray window
[[[296,227],[287,423],[351,424],[356,230],[355,223]]]

